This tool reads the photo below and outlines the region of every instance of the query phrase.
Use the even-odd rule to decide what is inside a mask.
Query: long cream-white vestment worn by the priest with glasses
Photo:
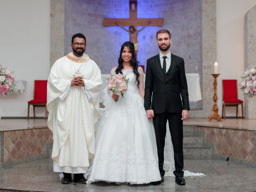
[[[85,86],[70,86],[82,76]],[[99,118],[100,69],[88,55],[70,53],[52,66],[47,84],[48,128],[53,134],[54,172],[85,173],[94,157]]]

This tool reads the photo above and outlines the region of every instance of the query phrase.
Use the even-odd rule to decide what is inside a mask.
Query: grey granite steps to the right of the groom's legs
[[[210,159],[214,145],[204,140],[204,132],[195,126],[183,126],[183,154],[185,159]]]

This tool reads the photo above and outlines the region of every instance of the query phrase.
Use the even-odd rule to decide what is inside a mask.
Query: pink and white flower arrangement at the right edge
[[[256,96],[256,67],[246,70],[241,78],[243,81],[240,83],[240,89],[248,97]]]

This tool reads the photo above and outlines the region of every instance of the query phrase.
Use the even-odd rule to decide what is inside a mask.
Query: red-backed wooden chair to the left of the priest
[[[47,119],[47,108],[46,108],[46,98],[47,98],[47,80],[35,80],[34,82],[34,99],[28,101],[28,119],[29,119],[29,106],[33,105],[34,119],[35,107],[45,107],[45,119]]]

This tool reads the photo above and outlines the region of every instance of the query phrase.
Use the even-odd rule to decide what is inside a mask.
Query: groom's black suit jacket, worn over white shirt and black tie
[[[171,54],[171,65],[166,76],[159,54],[147,60],[144,107],[146,110],[153,109],[154,113],[163,113],[165,109],[170,113],[190,110],[183,58]]]

